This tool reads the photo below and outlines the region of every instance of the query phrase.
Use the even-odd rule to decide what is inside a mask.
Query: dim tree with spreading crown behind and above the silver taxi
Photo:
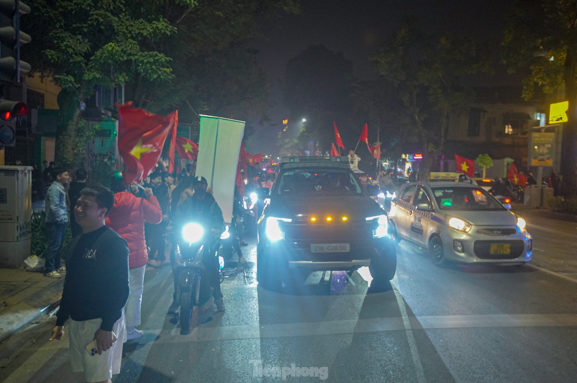
[[[488,71],[489,64],[473,40],[443,35],[438,39],[402,26],[370,56],[377,71],[395,89],[403,113],[422,146],[421,179],[428,179],[441,154],[449,112],[465,109],[473,90],[460,81],[466,75]]]

